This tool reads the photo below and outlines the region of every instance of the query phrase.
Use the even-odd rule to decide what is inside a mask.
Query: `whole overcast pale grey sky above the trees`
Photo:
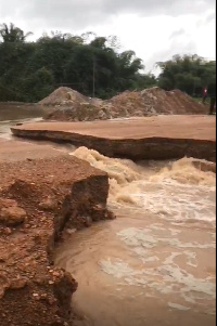
[[[215,0],[0,0],[0,23],[43,31],[116,35],[146,70],[180,53],[215,58]]]

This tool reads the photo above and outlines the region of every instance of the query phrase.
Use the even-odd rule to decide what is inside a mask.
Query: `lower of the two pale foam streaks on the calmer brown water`
[[[216,285],[214,279],[197,278],[175,264],[163,264],[158,268],[132,269],[127,262],[112,259],[100,262],[101,270],[124,284],[146,288],[148,292],[179,295],[184,301],[196,302],[199,299],[215,300]],[[187,300],[188,299],[188,300]]]

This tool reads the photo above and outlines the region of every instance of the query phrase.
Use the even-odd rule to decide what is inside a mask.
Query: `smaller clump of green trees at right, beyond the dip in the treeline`
[[[197,55],[175,55],[173,60],[157,63],[162,68],[158,86],[166,89],[179,89],[190,95],[200,96],[204,87],[209,94],[216,87],[216,62],[205,61]]]

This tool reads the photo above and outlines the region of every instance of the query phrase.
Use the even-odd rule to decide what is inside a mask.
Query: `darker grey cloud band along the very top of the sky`
[[[35,27],[80,29],[120,14],[142,17],[196,14],[215,9],[215,0],[8,0],[2,1],[3,17],[28,21]]]

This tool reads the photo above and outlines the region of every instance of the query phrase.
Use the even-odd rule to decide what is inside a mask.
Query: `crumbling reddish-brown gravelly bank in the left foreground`
[[[1,326],[68,325],[76,281],[53,266],[64,227],[113,218],[108,179],[77,158],[0,164]]]

